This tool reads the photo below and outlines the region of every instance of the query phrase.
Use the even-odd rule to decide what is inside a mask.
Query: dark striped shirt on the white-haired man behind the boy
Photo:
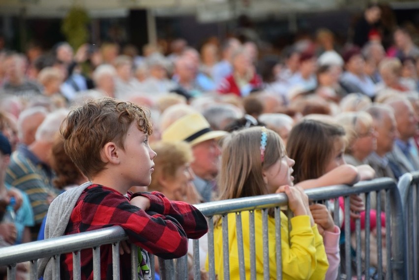
[[[56,194],[52,185],[53,172],[49,166],[20,145],[10,158],[6,171],[6,183],[24,191],[32,206],[35,224],[40,224],[47,214],[48,195]]]

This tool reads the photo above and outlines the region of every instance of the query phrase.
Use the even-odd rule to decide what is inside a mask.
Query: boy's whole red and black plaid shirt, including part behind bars
[[[150,199],[147,213],[129,203],[142,195]],[[192,205],[171,201],[157,191],[120,192],[100,185],[87,187],[80,195],[65,230],[65,235],[119,225],[131,243],[165,259],[187,252],[188,238],[197,239],[208,231],[207,220]],[[120,255],[120,279],[131,279],[130,254]],[[81,251],[81,279],[93,279],[92,250]],[[112,279],[112,246],[100,247],[101,279]],[[72,253],[61,255],[61,279],[73,279]]]

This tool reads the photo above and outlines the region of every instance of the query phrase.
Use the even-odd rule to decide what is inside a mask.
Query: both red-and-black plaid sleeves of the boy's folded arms
[[[120,225],[130,242],[165,259],[185,255],[188,236],[199,238],[207,232],[205,217],[192,205],[172,202],[160,193],[142,195],[150,199],[148,213],[119,192],[92,185],[76,204],[68,226],[75,233]]]

